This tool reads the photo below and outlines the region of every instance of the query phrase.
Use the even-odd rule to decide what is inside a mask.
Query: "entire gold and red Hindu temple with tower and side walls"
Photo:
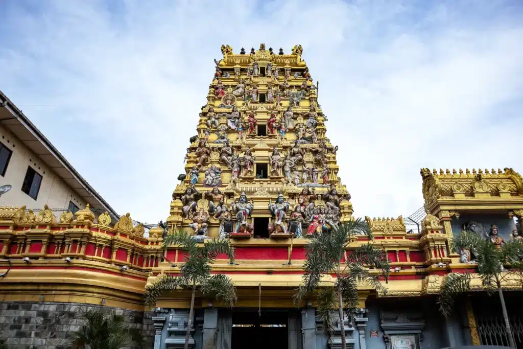
[[[159,275],[180,272],[186,251],[164,249],[162,240],[185,230],[201,244],[230,240],[234,263],[219,257],[212,273],[227,274],[238,296],[230,308],[197,295],[190,348],[335,349],[342,345],[340,321],[350,348],[502,344],[497,300],[481,292],[479,277],[472,280],[477,292],[463,297],[451,318],[439,312],[437,295],[449,273],[476,273],[470,253],[451,249],[454,234],[469,229],[488,239],[495,227],[499,241],[521,239],[521,175],[509,167],[423,168],[419,220],[371,218],[375,212],[363,212],[373,244],[391,261],[388,292],[379,295],[361,285],[359,315],[338,318],[337,331],[327,338],[314,301],[293,302],[308,237],[354,219],[351,196],[338,177],[338,147],[328,138],[319,86],[299,44],[287,52],[263,43],[239,52],[222,45],[221,52],[215,71],[209,72],[207,103],[187,140],[185,172],[173,174],[178,177],[169,216],[148,237],[129,213],[115,223],[107,212],[95,216],[89,206],[60,217],[46,209],[36,214],[25,207],[0,208],[2,258],[12,260],[9,273],[0,278],[0,320],[9,320],[0,322],[19,321],[18,331],[31,335],[50,332],[33,323],[52,325],[55,317],[75,319],[82,307],[106,307],[126,314],[149,347],[181,348],[190,293],[166,294],[152,309],[143,294]],[[158,215],[165,213],[167,208]],[[362,235],[347,242],[346,250],[369,241]],[[523,348],[521,285],[514,276],[504,288],[515,339]],[[60,331],[65,330],[55,332]],[[52,338],[42,343],[65,345]]]

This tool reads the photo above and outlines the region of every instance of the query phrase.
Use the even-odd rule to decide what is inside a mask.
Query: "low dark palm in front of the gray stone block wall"
[[[123,316],[108,314],[97,308],[87,311],[87,323],[70,334],[71,349],[119,349],[135,343],[142,348],[143,338],[137,329],[126,328]]]

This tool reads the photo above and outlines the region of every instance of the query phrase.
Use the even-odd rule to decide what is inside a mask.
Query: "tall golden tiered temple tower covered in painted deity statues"
[[[337,229],[351,217],[350,195],[301,47],[222,52],[173,193],[169,230],[245,242],[306,238],[311,223],[317,233]]]

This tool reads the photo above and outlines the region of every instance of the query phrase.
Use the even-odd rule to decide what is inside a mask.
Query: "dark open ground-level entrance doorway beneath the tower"
[[[288,349],[288,318],[287,311],[233,311],[231,349]]]

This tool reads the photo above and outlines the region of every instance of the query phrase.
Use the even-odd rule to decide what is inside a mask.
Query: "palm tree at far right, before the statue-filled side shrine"
[[[509,345],[516,347],[508,321],[505,298],[503,297],[503,283],[511,274],[522,275],[523,262],[521,261],[521,256],[523,256],[523,244],[517,241],[510,241],[499,246],[492,243],[490,239],[483,239],[475,232],[461,231],[458,235],[454,235],[452,249],[456,251],[471,251],[476,258],[477,273],[480,275],[481,285],[488,295],[492,295],[497,291],[501,301]],[[508,269],[504,265],[509,266]],[[445,317],[449,317],[452,314],[454,299],[458,295],[471,290],[470,281],[471,275],[469,273],[451,273],[447,275],[441,285],[438,297],[439,309]]]

